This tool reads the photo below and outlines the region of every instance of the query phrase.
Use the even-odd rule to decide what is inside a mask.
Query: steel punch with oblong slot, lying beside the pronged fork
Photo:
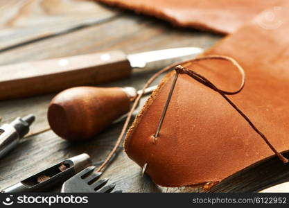
[[[91,165],[89,155],[83,153],[75,157],[66,159],[46,170],[32,175],[17,184],[13,184],[1,192],[12,193],[12,192],[37,192],[37,191],[48,191],[49,189],[62,184],[65,180],[75,175],[83,168]]]

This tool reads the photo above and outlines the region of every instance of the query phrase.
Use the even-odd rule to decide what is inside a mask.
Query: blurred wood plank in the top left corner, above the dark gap
[[[94,1],[10,0],[0,2],[0,51],[116,17]]]

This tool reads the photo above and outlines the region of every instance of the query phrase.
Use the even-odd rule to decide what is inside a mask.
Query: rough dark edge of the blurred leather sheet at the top
[[[125,3],[121,3],[121,2],[112,2],[112,1],[107,1],[107,0],[96,0],[96,1],[101,2],[101,3],[105,3],[105,4],[110,5],[110,6],[116,6],[119,8],[126,9],[126,10],[132,10],[133,12],[135,12],[137,14],[150,15],[151,17],[156,17],[156,18],[162,19],[164,21],[168,21],[173,26],[178,26],[178,27],[183,27],[183,28],[195,28],[199,31],[206,31],[206,32],[209,31],[209,32],[213,32],[213,33],[221,34],[221,35],[229,34],[228,31],[218,30],[216,28],[212,28],[210,26],[207,26],[206,24],[201,24],[198,22],[189,22],[189,23],[181,22],[174,17],[170,17],[169,15],[166,15],[165,12],[160,12],[158,10],[155,10],[155,8],[151,8],[148,6],[132,7],[132,6],[126,5]]]

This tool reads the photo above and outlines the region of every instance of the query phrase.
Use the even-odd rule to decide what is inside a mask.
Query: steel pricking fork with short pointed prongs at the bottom
[[[96,192],[96,193],[108,193],[111,192],[115,185],[107,184],[108,179],[98,180],[102,173],[93,173],[95,166],[89,166],[80,173],[74,175],[62,185],[62,193],[73,192]]]

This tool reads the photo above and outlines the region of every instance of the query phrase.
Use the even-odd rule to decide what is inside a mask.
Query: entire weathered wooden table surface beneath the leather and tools
[[[109,8],[94,1],[0,1],[0,14],[1,65],[113,49],[125,53],[181,46],[207,49],[222,38],[212,33],[175,28],[164,21]],[[154,71],[134,71],[127,80],[103,86],[141,89],[152,73]],[[80,153],[88,153],[98,166],[114,146],[123,125],[121,122],[110,126],[91,141],[78,145],[55,135],[46,119],[47,107],[53,96],[55,94],[0,102],[1,123],[30,113],[35,114],[37,119],[21,144],[0,159],[0,189]],[[141,103],[145,100],[143,98]],[[288,179],[287,169],[288,166],[273,158],[229,177],[212,191],[256,191],[270,183]],[[202,191],[198,187],[158,187],[148,176],[141,177],[141,168],[123,150],[103,177],[110,177],[111,182],[116,183],[116,189],[123,192]]]

